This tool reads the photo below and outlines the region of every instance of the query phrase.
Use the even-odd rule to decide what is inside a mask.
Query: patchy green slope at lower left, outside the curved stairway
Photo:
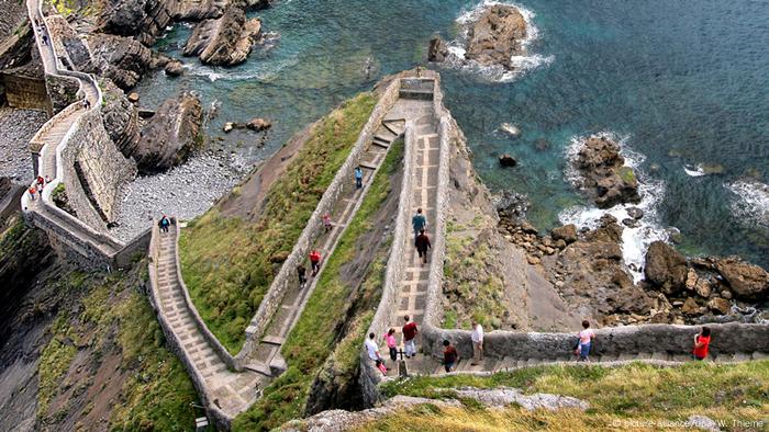
[[[37,417],[42,424],[55,429],[66,417],[85,418],[93,409],[93,400],[80,406],[76,402],[81,395],[96,391],[94,398],[99,398],[101,391],[116,385],[109,382],[94,388],[93,375],[83,377],[82,366],[73,363],[77,356],[90,359],[86,371],[94,373],[104,357],[119,355],[114,375],[127,377],[109,413],[111,430],[192,428],[194,413],[190,403],[198,400],[192,382],[165,348],[163,332],[146,298],[134,289],[143,268],[137,264],[130,274],[71,272],[55,282],[73,295],[87,294],[76,312],[58,312],[49,330],[52,339],[41,354]],[[49,403],[57,398],[66,401],[51,412]]]

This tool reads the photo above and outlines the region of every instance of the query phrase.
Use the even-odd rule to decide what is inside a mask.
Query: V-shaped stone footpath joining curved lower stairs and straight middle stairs
[[[151,302],[172,350],[181,359],[218,425],[230,428],[233,419],[256,401],[260,391],[286,370],[280,349],[307,305],[320,277],[307,287],[297,281],[297,264],[311,249],[324,257],[334,253],[347,224],[363,204],[371,180],[384,161],[390,145],[402,134],[400,118],[389,113],[397,104],[400,80],[380,96],[350,154],[324,192],[291,253],[246,329],[246,342],[232,355],[210,331],[190,299],[180,272],[178,225],[161,234],[153,227],[149,247]],[[364,186],[352,185],[353,171],[364,169]],[[332,216],[326,232],[321,216]],[[325,269],[324,260],[321,272]],[[320,274],[319,274],[320,276]]]

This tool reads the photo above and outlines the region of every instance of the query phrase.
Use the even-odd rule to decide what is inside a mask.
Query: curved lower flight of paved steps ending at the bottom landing
[[[203,377],[209,394],[214,397],[212,402],[227,416],[235,417],[254,403],[259,396],[259,388],[264,387],[269,378],[248,371],[230,372],[201,336],[179,283],[176,249],[177,230],[160,234],[160,254],[157,262],[159,312],[167,318],[170,330],[181,341],[194,373]]]

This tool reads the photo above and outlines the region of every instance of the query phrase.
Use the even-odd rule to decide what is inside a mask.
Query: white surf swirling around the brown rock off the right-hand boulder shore
[[[646,250],[654,241],[668,240],[668,231],[661,226],[658,216],[659,203],[665,195],[665,183],[661,180],[651,179],[646,173],[639,170],[640,163],[646,157],[642,154],[632,151],[627,148],[626,143],[629,135],[618,136],[611,132],[602,132],[598,136],[605,136],[620,145],[620,154],[625,158],[625,166],[633,168],[638,180],[638,194],[640,203],[638,204],[617,204],[611,208],[598,208],[594,206],[572,206],[564,209],[558,219],[561,224],[575,224],[578,228],[587,227],[595,229],[599,226],[599,219],[603,215],[614,216],[618,223],[623,219],[631,218],[628,208],[637,207],[644,211],[644,217],[638,220],[635,227],[623,226],[622,231],[622,257],[625,265],[627,265],[633,281],[638,283],[644,278],[644,259]],[[576,159],[579,150],[584,145],[588,137],[572,137],[570,145],[567,146],[565,154],[569,160],[565,175],[567,180],[577,187],[581,187],[582,181],[579,171],[576,168]]]

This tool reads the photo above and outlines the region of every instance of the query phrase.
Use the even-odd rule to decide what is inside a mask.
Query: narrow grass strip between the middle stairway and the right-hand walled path
[[[339,269],[356,253],[355,245],[371,227],[371,219],[390,192],[390,175],[398,170],[402,146],[393,147],[374,180],[358,213],[350,221],[328,262],[315,291],[299,321],[283,344],[282,354],[288,370],[269,387],[264,397],[233,424],[235,431],[261,431],[277,428],[288,420],[300,418],[308,394],[319,368],[330,355],[335,355],[337,367],[355,367],[360,345],[372,314],[359,317],[352,331],[334,350],[337,338],[334,329],[345,319],[345,305],[355,287],[344,284]],[[364,280],[364,292],[380,295],[387,257],[377,257]]]

